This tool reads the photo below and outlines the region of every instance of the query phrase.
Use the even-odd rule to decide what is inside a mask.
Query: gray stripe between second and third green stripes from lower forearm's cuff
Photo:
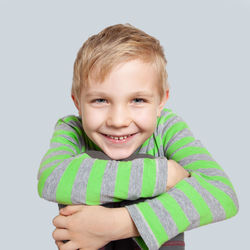
[[[190,222],[188,229],[198,227],[200,225],[200,215],[189,198],[177,188],[170,189],[168,193],[179,203],[181,209],[188,218]]]

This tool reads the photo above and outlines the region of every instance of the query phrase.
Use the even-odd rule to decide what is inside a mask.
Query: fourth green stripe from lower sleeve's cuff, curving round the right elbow
[[[200,183],[202,187],[204,187],[208,192],[210,192],[214,196],[215,199],[219,201],[221,206],[224,208],[227,219],[237,213],[237,207],[229,195],[227,195],[219,188],[213,186],[212,184],[206,182],[206,180],[204,180],[198,174],[193,173],[193,176],[196,178],[196,180]]]

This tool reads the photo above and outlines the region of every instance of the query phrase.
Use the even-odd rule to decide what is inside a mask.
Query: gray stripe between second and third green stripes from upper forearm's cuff
[[[101,204],[113,202],[117,167],[117,161],[108,161],[108,164],[106,165],[102,179],[102,188],[100,194]]]

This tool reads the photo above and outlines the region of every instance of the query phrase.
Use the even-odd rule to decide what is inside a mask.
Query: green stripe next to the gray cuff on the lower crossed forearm
[[[162,245],[165,241],[168,240],[168,235],[159,218],[155,214],[155,211],[146,202],[140,202],[136,204],[136,206],[142,213],[143,218],[148,223],[149,228],[152,230],[152,233],[154,234],[158,245]]]

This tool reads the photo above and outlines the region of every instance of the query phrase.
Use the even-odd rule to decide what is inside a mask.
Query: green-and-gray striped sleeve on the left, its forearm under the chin
[[[99,205],[164,193],[167,159],[99,160],[79,117],[60,119],[38,173],[40,197],[60,204]]]

